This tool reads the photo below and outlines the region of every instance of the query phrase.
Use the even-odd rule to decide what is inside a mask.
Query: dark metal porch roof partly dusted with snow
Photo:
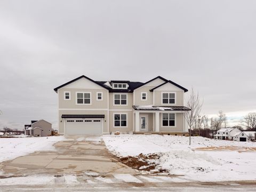
[[[190,110],[184,106],[132,106],[135,110],[174,110],[174,111],[187,111]]]

